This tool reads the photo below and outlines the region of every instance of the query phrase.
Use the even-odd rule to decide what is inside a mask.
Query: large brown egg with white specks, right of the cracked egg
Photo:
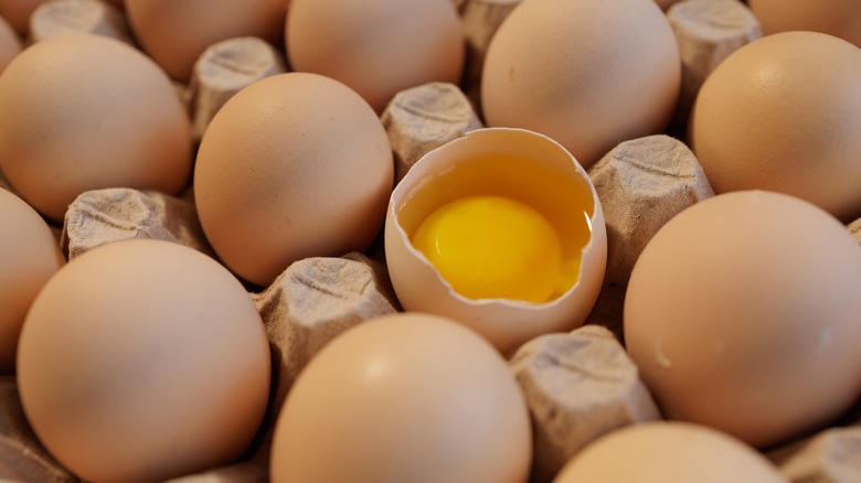
[[[757,448],[835,421],[861,393],[861,247],[827,212],[766,191],[663,225],[625,297],[626,346],[663,415]]]

